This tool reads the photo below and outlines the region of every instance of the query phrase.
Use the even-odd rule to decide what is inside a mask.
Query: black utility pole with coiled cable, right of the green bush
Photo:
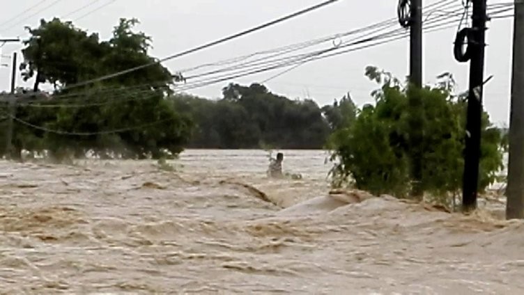
[[[484,88],[484,48],[486,47],[486,0],[472,0],[472,28],[468,33],[470,88],[465,135],[463,211],[477,208],[479,184],[482,92]]]

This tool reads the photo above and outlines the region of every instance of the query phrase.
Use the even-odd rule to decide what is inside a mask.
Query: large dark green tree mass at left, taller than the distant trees
[[[135,24],[136,19],[121,19],[107,41],[60,19],[42,20],[38,28],[28,28],[20,70],[25,80],[35,78],[29,93],[35,93],[39,103],[21,102],[17,107],[13,157],[20,157],[21,150],[48,150],[54,156],[80,156],[91,150],[102,156],[137,159],[176,155],[182,150],[192,122],[167,99],[173,79],[162,65],[71,87],[153,63],[155,59],[148,55],[151,38],[134,33]],[[47,100],[39,92],[43,84],[54,88]],[[5,122],[1,127],[5,129]],[[114,130],[121,132],[110,132]]]

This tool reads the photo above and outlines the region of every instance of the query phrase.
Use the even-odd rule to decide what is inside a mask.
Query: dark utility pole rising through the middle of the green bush
[[[413,87],[408,92],[410,106],[410,154],[411,173],[413,176],[412,196],[422,199],[422,125],[424,124],[424,102],[422,88],[422,0],[411,0],[410,5],[410,83]]]

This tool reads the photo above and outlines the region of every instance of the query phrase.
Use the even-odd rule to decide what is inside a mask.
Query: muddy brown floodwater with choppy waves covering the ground
[[[302,180],[261,151],[1,161],[0,294],[524,294],[523,223],[330,196],[323,152],[284,154]]]

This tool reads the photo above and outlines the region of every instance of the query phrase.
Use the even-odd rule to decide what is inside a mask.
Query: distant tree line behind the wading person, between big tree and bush
[[[218,101],[177,97],[196,130],[192,148],[318,149],[330,134],[329,121],[313,100],[290,100],[260,84],[230,84]]]

